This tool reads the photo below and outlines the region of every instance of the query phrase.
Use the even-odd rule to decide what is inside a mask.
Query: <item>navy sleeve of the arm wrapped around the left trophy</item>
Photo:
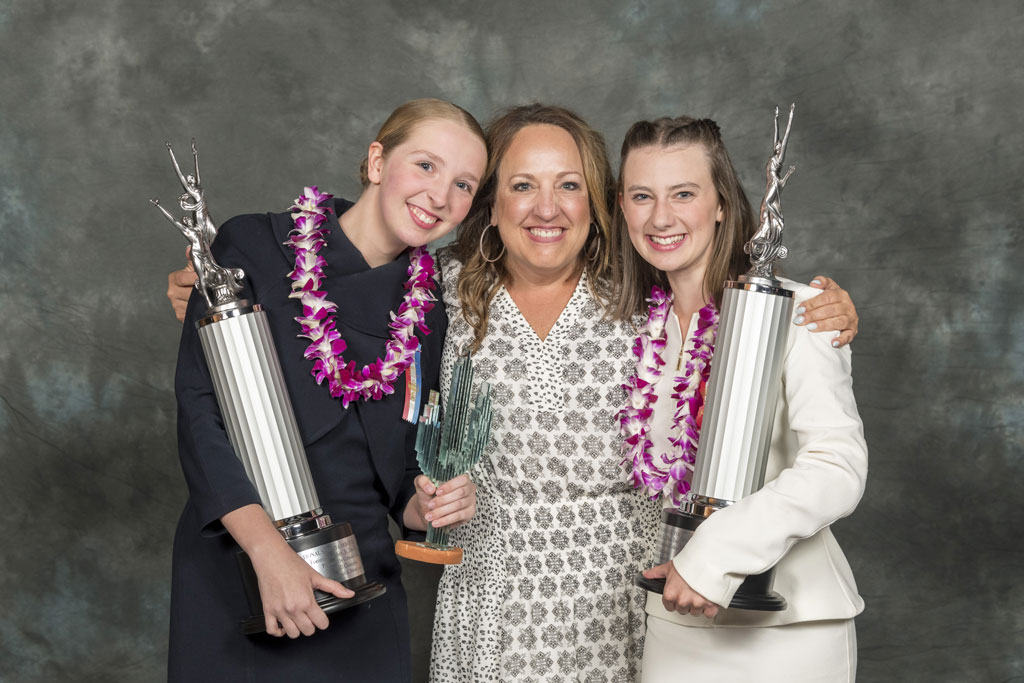
[[[261,222],[266,224],[261,225]],[[258,278],[259,264],[248,254],[252,252],[253,245],[266,248],[260,239],[264,231],[269,231],[265,216],[232,218],[218,231],[212,250],[221,266],[241,267],[246,271],[245,295],[250,300],[253,278]],[[243,249],[240,245],[248,245],[249,248]],[[201,521],[201,528],[197,530],[204,536],[214,536],[224,532],[220,517],[251,503],[258,505],[260,500],[224,430],[210,371],[196,330],[196,321],[205,311],[206,300],[194,291],[181,330],[174,393],[178,409],[178,456],[191,503]]]

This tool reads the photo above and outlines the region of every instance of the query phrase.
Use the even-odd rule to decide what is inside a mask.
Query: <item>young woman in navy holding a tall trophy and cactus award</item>
[[[385,356],[391,313],[414,285],[411,260],[432,271],[429,255],[416,248],[462,221],[485,163],[483,135],[472,116],[441,100],[414,100],[391,115],[370,145],[364,191],[354,204],[315,188],[304,193],[310,206],[330,210],[324,211],[326,240],[315,256],[326,261],[318,289],[336,305],[335,330],[346,346],[336,367],[354,361],[364,368]],[[313,361],[304,356],[309,340],[297,336],[303,333],[296,322],[302,304],[290,296],[297,254],[285,243],[296,227],[289,213],[238,216],[220,228],[213,253],[221,265],[245,270],[247,298],[266,310],[322,506],[334,520],[352,524],[367,577],[387,593],[330,618],[316,606],[313,589],[339,597],[351,592],[299,558],[260,506],[222,425],[195,328],[205,305],[193,296],[175,378],[189,499],[174,540],[172,681],[408,680],[406,596],[388,517],[402,530],[425,529],[465,521],[475,509],[467,477],[435,489],[419,475],[415,426],[402,420],[406,375],[415,368],[390,386],[369,378],[367,386],[374,386],[345,396],[347,407],[331,395],[330,377],[321,384],[311,374]],[[437,385],[443,307],[426,312],[423,325],[416,331],[419,400]],[[239,547],[259,580],[267,636],[240,632],[248,605],[236,564]]]

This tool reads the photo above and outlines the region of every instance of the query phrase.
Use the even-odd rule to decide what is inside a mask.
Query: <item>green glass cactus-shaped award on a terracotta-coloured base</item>
[[[452,385],[443,419],[436,391],[430,392],[416,432],[417,462],[436,485],[465,474],[480,462],[490,437],[490,385],[483,382],[470,410],[473,390],[473,360],[461,356],[452,370]],[[423,543],[398,541],[396,555],[432,564],[459,564],[462,548],[449,545],[447,526],[427,528]]]

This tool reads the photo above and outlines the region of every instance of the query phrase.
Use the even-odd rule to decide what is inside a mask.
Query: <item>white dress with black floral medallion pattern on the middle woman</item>
[[[438,254],[449,315],[441,365],[472,341],[456,296],[461,264]],[[633,369],[630,326],[601,321],[581,278],[542,342],[502,288],[474,354],[490,383],[490,442],[472,472],[476,515],[453,532],[434,620],[435,683],[625,683],[643,654],[644,592],[660,506],[621,465],[614,413]]]

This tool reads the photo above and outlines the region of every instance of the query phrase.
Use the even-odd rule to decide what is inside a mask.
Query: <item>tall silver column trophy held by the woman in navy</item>
[[[151,202],[191,246],[196,289],[208,306],[196,328],[227,437],[259,492],[263,509],[288,545],[316,571],[355,592],[351,598],[338,598],[314,591],[316,604],[332,613],[379,597],[386,589],[367,581],[351,525],[333,523],[321,508],[266,312],[259,304],[240,298],[245,272],[218,265],[210,253],[217,228],[200,183],[196,140],[191,150],[195,172],[185,175],[167,143],[184,188],[178,202],[186,212],[184,218],[176,220],[159,200]],[[241,550],[238,560],[252,610],[252,615],[242,620],[242,632],[265,632],[256,572]]]

